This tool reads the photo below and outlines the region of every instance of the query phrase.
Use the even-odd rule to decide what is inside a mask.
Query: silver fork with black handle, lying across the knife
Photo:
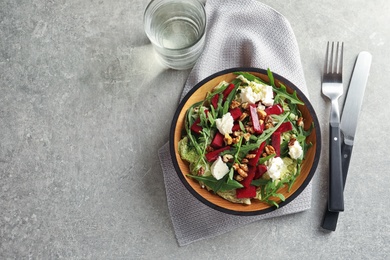
[[[336,45],[336,46],[335,46]],[[328,42],[322,78],[322,93],[331,101],[329,119],[329,195],[328,210],[344,211],[341,169],[340,111],[338,99],[343,94],[343,42]]]

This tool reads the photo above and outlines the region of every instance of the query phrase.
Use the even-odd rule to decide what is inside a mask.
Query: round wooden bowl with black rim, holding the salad
[[[178,142],[182,138],[184,130],[184,119],[185,114],[188,108],[199,101],[202,101],[206,97],[206,93],[210,92],[215,86],[218,85],[221,81],[230,82],[237,75],[234,72],[249,72],[262,80],[269,82],[267,76],[267,70],[258,69],[258,68],[232,68],[217,72],[206,79],[199,82],[194,86],[189,93],[183,98],[180,102],[172,120],[171,130],[170,130],[170,152],[172,156],[172,162],[177,172],[178,177],[187,188],[187,190],[199,201],[203,202],[207,206],[233,215],[260,215],[268,213],[277,209],[277,207],[272,206],[268,203],[261,202],[259,200],[252,200],[250,205],[238,204],[227,201],[220,196],[214,194],[213,192],[208,191],[207,189],[202,188],[198,181],[194,180],[187,175],[190,173],[189,165],[186,161],[182,160],[178,152]],[[281,188],[279,192],[285,197],[284,201],[277,200],[276,202],[280,207],[283,207],[293,201],[310,183],[312,179],[320,157],[321,151],[321,133],[320,125],[316,113],[307,97],[302,93],[302,91],[297,88],[290,81],[284,77],[273,73],[275,80],[275,86],[279,87],[280,83],[286,86],[287,92],[292,93],[296,91],[298,98],[304,102],[305,105],[298,105],[302,116],[305,120],[305,129],[310,127],[314,123],[314,129],[312,130],[310,136],[307,137],[307,142],[312,143],[312,147],[307,151],[305,160],[301,165],[301,172],[297,177],[295,183],[292,185],[290,191],[287,187]],[[178,187],[179,188],[179,187]]]

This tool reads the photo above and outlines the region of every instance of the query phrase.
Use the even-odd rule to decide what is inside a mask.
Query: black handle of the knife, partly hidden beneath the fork
[[[345,188],[345,183],[347,181],[349,162],[352,155],[352,145],[347,145],[342,143],[341,145],[341,155],[342,155],[342,169],[343,169],[343,188]],[[324,219],[322,221],[322,228],[335,231],[337,226],[337,220],[339,218],[339,212],[331,212],[326,207]]]

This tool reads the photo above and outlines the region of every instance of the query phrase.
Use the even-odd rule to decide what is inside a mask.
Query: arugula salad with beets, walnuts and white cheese
[[[296,92],[248,72],[220,82],[189,107],[179,141],[180,157],[202,188],[233,203],[259,200],[278,207],[291,189],[311,143]]]

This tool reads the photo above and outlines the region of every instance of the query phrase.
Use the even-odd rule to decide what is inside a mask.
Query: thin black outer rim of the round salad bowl
[[[213,208],[215,210],[218,210],[218,211],[221,211],[221,212],[224,212],[224,213],[228,213],[228,214],[232,214],[232,215],[240,215],[240,216],[255,216],[255,215],[262,215],[262,214],[265,214],[265,213],[269,213],[271,211],[276,210],[277,208],[274,207],[274,206],[270,206],[270,207],[268,207],[266,209],[261,209],[261,210],[237,211],[237,210],[231,210],[231,209],[227,209],[227,208],[221,207],[221,206],[219,206],[217,204],[214,204],[214,203],[210,202],[209,200],[205,199],[196,190],[194,190],[194,188],[187,182],[186,178],[182,174],[180,166],[179,166],[179,163],[178,163],[177,158],[176,158],[176,151],[175,151],[175,144],[174,144],[175,132],[176,132],[176,124],[177,124],[177,121],[178,121],[178,117],[179,117],[179,115],[180,115],[184,105],[189,100],[189,98],[194,94],[194,92],[196,92],[199,88],[201,88],[204,84],[206,84],[208,81],[212,80],[213,78],[216,78],[216,77],[219,77],[219,76],[223,76],[225,74],[229,74],[229,73],[233,73],[233,72],[239,72],[239,71],[250,72],[250,73],[251,72],[260,73],[260,74],[263,74],[265,76],[267,75],[267,70],[264,70],[264,69],[252,68],[252,67],[236,67],[236,68],[230,68],[230,69],[225,69],[225,70],[216,72],[216,73],[206,77],[205,79],[203,79],[199,83],[197,83],[185,95],[185,97],[180,101],[180,104],[179,104],[178,108],[176,109],[176,112],[174,114],[174,117],[173,117],[173,120],[172,120],[172,124],[171,124],[170,134],[169,134],[169,140],[170,140],[169,141],[169,151],[170,151],[170,154],[171,154],[173,166],[175,168],[175,171],[176,171],[179,179],[181,180],[183,185],[186,187],[186,189],[195,198],[197,198],[199,201],[201,201],[205,205],[209,206],[210,208]],[[317,166],[318,166],[320,153],[321,153],[321,129],[320,129],[320,124],[319,124],[319,121],[318,121],[318,118],[317,118],[317,114],[315,113],[314,108],[313,108],[311,102],[306,97],[306,95],[299,88],[297,88],[295,86],[295,84],[291,83],[286,78],[284,78],[284,77],[282,77],[282,76],[280,76],[280,75],[278,75],[277,73],[274,73],[274,72],[272,72],[272,74],[273,74],[273,77],[275,79],[275,82],[277,82],[277,81],[282,82],[286,87],[288,87],[288,88],[290,88],[292,90],[295,90],[297,92],[298,97],[304,102],[305,107],[307,107],[307,109],[309,110],[309,113],[310,113],[310,115],[312,117],[312,121],[313,121],[314,126],[315,126],[315,138],[316,138],[315,139],[316,140],[316,143],[315,143],[315,155],[314,155],[314,159],[313,159],[313,163],[312,163],[312,166],[310,168],[310,171],[309,171],[306,179],[303,181],[302,185],[299,186],[298,189],[291,196],[289,196],[285,201],[282,201],[282,202],[279,203],[279,208],[281,208],[281,207],[287,205],[288,203],[290,203],[291,201],[293,201],[299,194],[301,194],[302,191],[307,187],[307,185],[310,183],[311,179],[313,178],[314,173],[315,173],[315,171],[317,169]],[[218,196],[218,195],[215,195],[215,196]]]

